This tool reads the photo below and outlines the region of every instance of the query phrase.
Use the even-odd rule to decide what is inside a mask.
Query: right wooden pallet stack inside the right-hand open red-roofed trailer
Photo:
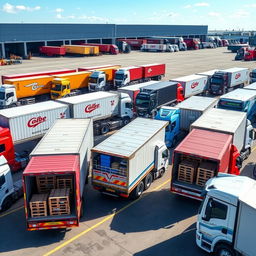
[[[216,165],[213,163],[203,162],[197,170],[196,184],[204,186],[206,181],[212,178],[216,171]]]

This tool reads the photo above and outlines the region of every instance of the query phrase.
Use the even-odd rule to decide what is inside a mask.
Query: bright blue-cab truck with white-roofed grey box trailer
[[[190,125],[216,104],[217,99],[215,98],[192,96],[175,107],[161,107],[155,119],[169,122],[165,129],[166,146],[174,147],[187,135]]]

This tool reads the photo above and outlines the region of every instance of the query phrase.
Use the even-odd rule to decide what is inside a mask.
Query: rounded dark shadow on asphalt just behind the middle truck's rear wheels
[[[175,196],[167,189],[150,192],[132,207],[115,215],[110,229],[122,234],[171,229],[196,215],[199,205],[200,202]]]

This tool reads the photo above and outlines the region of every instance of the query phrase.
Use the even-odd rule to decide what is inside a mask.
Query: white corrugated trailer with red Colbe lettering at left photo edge
[[[9,128],[14,144],[42,137],[58,118],[69,118],[66,104],[45,101],[0,110],[0,126]]]

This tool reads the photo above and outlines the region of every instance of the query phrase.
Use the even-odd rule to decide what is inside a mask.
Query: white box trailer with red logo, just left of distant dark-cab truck
[[[207,77],[202,75],[189,75],[171,79],[172,82],[179,82],[184,89],[184,97],[205,93]]]

